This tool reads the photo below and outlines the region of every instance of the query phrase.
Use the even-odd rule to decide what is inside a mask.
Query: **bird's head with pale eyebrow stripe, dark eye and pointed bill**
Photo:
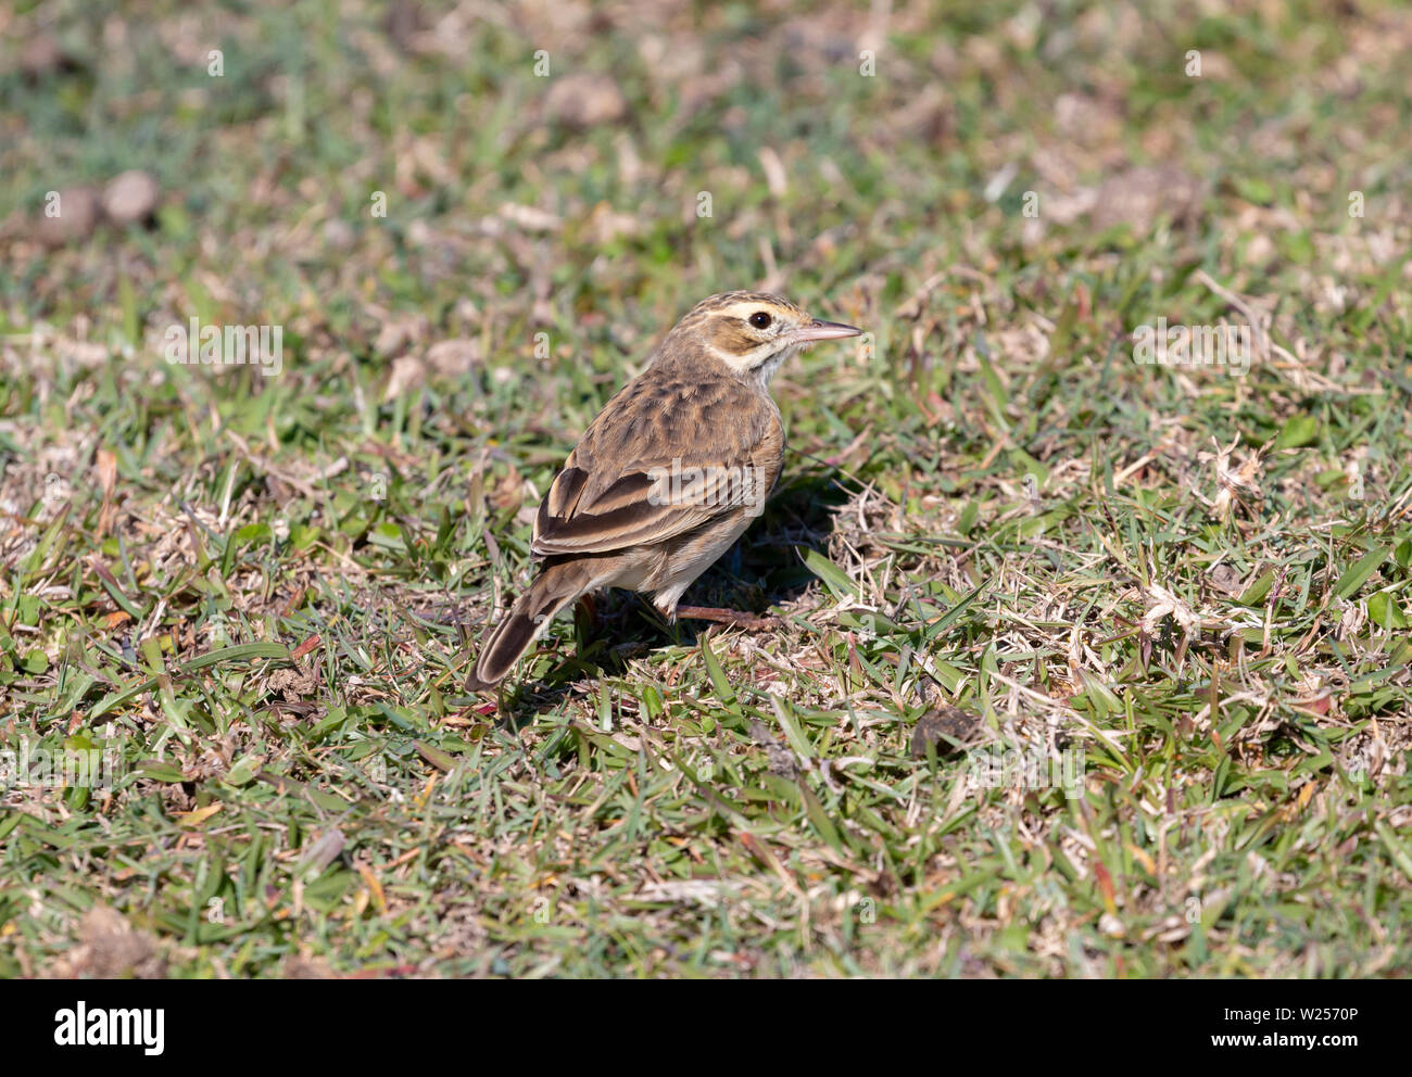
[[[820,322],[770,292],[723,292],[699,302],[676,323],[668,343],[696,344],[737,374],[768,384],[801,347],[861,333],[850,325]]]

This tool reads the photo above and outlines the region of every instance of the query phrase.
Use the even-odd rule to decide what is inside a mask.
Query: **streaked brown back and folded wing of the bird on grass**
[[[734,378],[648,370],[614,397],[554,480],[532,550],[606,553],[681,535],[779,477],[784,426],[768,395]]]

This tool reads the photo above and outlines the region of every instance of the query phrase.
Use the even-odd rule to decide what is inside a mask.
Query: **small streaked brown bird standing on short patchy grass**
[[[771,292],[723,292],[692,308],[555,476],[530,545],[542,565],[486,634],[467,689],[498,685],[555,615],[600,587],[651,594],[669,624],[762,627],[678,603],[760,515],[784,469],[771,378],[801,349],[861,333]]]

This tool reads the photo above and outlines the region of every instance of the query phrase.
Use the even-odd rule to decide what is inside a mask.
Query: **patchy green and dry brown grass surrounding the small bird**
[[[68,58],[0,76],[0,740],[112,779],[11,765],[0,975],[1408,973],[1396,4],[188,7],[0,42]],[[871,335],[686,597],[784,625],[614,594],[467,696],[576,436],[761,284]]]

